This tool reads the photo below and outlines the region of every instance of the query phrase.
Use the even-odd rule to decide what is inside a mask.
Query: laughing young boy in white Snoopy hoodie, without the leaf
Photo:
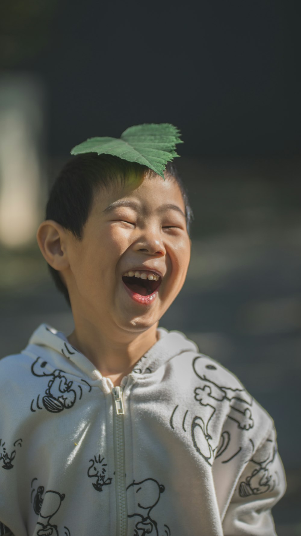
[[[190,261],[169,163],[73,157],[37,241],[71,304],[0,361],[0,534],[272,536],[273,421],[238,379],[158,327]]]

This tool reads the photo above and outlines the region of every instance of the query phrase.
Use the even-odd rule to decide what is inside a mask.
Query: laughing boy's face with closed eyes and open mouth
[[[115,202],[118,206],[107,208]],[[115,325],[139,332],[157,323],[180,292],[189,266],[184,214],[178,184],[159,175],[130,178],[124,187],[97,193],[82,241],[69,233],[65,277],[73,314],[101,322],[104,329]],[[158,281],[148,278],[152,270],[161,274]],[[137,271],[147,280],[131,276]]]

